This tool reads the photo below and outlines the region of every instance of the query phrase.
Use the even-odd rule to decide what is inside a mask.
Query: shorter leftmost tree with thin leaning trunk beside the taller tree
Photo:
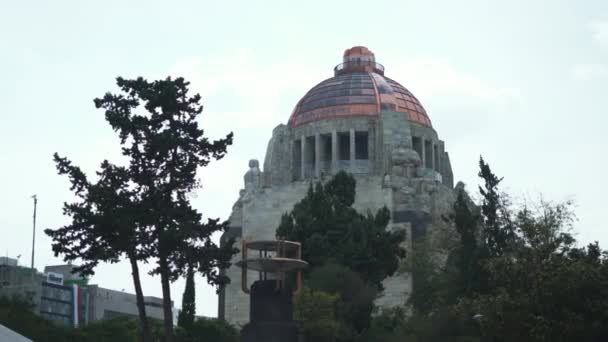
[[[128,170],[104,161],[97,172],[99,180],[91,183],[68,159],[55,153],[54,160],[59,174],[68,176],[70,189],[78,199],[64,203],[63,213],[72,218],[70,224],[45,230],[53,239],[55,256],[61,254],[67,262],[80,260],[82,264],[74,271],[91,275],[100,262],[116,263],[126,255],[131,266],[142,338],[151,341],[138,266],[138,261],[149,257],[149,250],[140,230],[143,213],[136,210],[140,201],[129,187]]]

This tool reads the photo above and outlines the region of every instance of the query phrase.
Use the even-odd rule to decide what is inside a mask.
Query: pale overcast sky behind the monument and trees
[[[234,132],[194,199],[227,219],[247,161],[262,162],[272,129],[354,45],[420,99],[455,180],[474,190],[483,155],[519,198],[575,200],[578,239],[608,244],[608,1],[2,1],[0,255],[29,265],[37,194],[36,267],[61,263],[42,233],[68,222],[52,154],[91,176],[120,156],[92,101],[116,76],[184,76],[207,134]],[[92,282],[133,292],[127,263]],[[203,284],[197,313],[215,316]],[[161,295],[159,278],[143,287]],[[172,289],[179,307],[183,282]]]

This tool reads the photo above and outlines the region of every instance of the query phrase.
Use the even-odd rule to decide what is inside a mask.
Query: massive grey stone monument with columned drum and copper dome
[[[450,210],[454,190],[445,143],[418,99],[362,46],[346,50],[334,76],[312,87],[287,124],[274,128],[263,170],[257,160],[249,162],[223,238],[274,239],[281,214],[304,197],[310,181],[339,170],[357,180],[358,210],[391,210],[389,229],[406,230],[406,247],[446,231],[441,215]],[[218,316],[245,324],[249,297],[241,291],[240,270],[232,266],[226,274],[231,283],[220,293]],[[384,287],[379,306],[405,304],[411,274],[397,274]]]

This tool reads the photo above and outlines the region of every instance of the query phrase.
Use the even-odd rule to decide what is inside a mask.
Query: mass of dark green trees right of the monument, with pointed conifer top
[[[608,254],[576,246],[571,204],[516,208],[483,159],[479,174],[480,211],[464,192],[454,205],[458,246],[439,266],[413,246],[414,310],[375,317],[368,340],[608,340]]]

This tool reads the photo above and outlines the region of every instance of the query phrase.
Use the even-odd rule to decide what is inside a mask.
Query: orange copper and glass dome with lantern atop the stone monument
[[[366,47],[344,51],[334,77],[317,84],[302,97],[289,118],[292,127],[330,118],[378,116],[400,112],[417,124],[432,127],[420,101],[398,82],[384,76]]]

